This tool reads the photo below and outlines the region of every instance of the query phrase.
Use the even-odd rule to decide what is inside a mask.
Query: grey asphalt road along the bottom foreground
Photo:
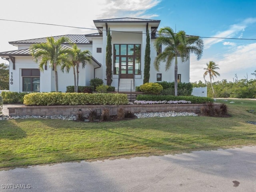
[[[256,146],[0,171],[1,192],[256,192]]]

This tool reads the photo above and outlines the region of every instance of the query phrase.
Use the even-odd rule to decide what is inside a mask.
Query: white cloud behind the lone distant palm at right
[[[226,42],[229,43],[229,42]],[[249,79],[254,78],[251,73],[256,70],[256,43],[234,46],[232,51],[212,55],[208,58],[202,58],[202,60],[197,61],[194,55],[190,58],[190,80],[195,82],[198,80],[204,81],[203,74],[206,63],[209,61],[214,61],[218,64],[220,70],[220,77],[214,78],[215,81],[227,79],[232,81],[234,74],[238,74],[238,79],[244,78],[246,73],[248,73]],[[209,80],[206,78],[206,80]]]

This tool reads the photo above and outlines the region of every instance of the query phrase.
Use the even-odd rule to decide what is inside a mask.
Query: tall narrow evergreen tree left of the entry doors
[[[111,86],[112,83],[112,37],[110,35],[110,28],[108,28],[107,36],[107,46],[106,46],[106,76],[107,76],[107,85]]]

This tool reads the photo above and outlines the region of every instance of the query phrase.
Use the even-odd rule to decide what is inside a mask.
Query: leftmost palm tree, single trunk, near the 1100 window
[[[68,54],[70,53],[69,48],[62,46],[64,42],[68,42],[68,38],[61,37],[58,40],[54,40],[53,37],[46,38],[46,43],[33,44],[30,46],[31,55],[34,60],[39,61],[39,69],[44,71],[43,66],[49,62],[50,67],[53,67],[55,73],[55,91],[58,92],[58,72],[57,66],[66,62],[68,59]]]

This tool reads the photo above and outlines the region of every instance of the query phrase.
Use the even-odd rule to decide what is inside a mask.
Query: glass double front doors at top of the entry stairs
[[[121,57],[120,78],[134,78],[134,57]]]

